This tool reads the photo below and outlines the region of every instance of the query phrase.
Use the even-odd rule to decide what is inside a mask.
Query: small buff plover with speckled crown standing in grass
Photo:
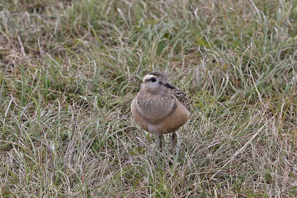
[[[132,116],[145,131],[157,136],[162,149],[163,134],[170,135],[171,148],[176,141],[176,131],[190,118],[187,94],[168,83],[163,72],[150,72],[143,77],[142,87],[131,103]]]

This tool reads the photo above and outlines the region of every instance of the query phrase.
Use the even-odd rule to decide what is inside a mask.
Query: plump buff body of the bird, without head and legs
[[[160,135],[177,131],[189,120],[190,104],[180,89],[156,95],[140,90],[131,104],[135,121],[147,132]]]

